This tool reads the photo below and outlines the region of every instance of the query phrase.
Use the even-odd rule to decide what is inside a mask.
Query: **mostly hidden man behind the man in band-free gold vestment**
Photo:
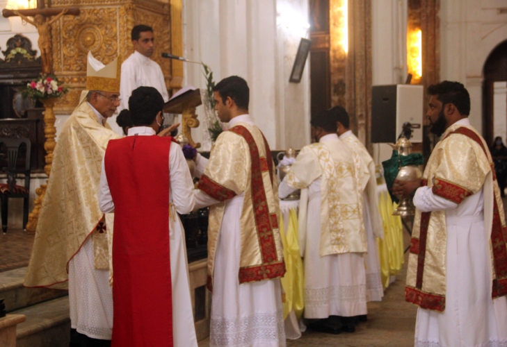
[[[338,136],[351,151],[357,153],[362,164],[367,167],[368,174],[364,175],[362,186],[362,213],[364,228],[367,232],[368,253],[364,256],[367,271],[367,301],[382,301],[384,288],[380,279],[380,258],[378,257],[377,237],[383,239],[384,229],[382,217],[378,210],[377,179],[375,176],[375,162],[368,150],[355,137],[349,128],[348,113],[345,108],[335,106],[330,109],[331,115],[337,120]],[[367,317],[361,316],[364,321]]]

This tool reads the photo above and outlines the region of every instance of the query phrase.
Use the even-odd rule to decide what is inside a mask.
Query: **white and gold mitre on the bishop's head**
[[[86,68],[86,90],[99,90],[101,92],[120,92],[121,62],[120,57],[108,65],[102,64],[88,52],[88,67]]]

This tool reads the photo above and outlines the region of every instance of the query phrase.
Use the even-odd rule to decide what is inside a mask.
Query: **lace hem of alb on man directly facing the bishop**
[[[254,343],[285,342],[282,310],[251,314],[239,319],[211,319],[209,346],[250,346]]]

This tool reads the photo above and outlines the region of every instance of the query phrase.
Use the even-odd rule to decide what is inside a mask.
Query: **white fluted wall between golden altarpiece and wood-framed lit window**
[[[232,75],[246,79],[250,115],[271,149],[309,143],[309,67],[301,83],[288,82],[301,33],[277,24],[277,13],[286,12],[306,23],[307,1],[188,0],[183,9],[184,56],[211,67],[216,83]],[[205,88],[200,65],[185,63],[184,76],[184,85]],[[202,106],[197,113],[202,125],[192,136],[208,150]]]

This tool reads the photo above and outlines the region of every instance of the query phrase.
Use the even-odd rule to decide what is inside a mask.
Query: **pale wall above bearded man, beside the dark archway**
[[[470,122],[483,131],[483,67],[491,51],[507,38],[504,0],[441,2],[441,79],[459,81],[469,91]],[[496,134],[495,134],[496,135]]]

